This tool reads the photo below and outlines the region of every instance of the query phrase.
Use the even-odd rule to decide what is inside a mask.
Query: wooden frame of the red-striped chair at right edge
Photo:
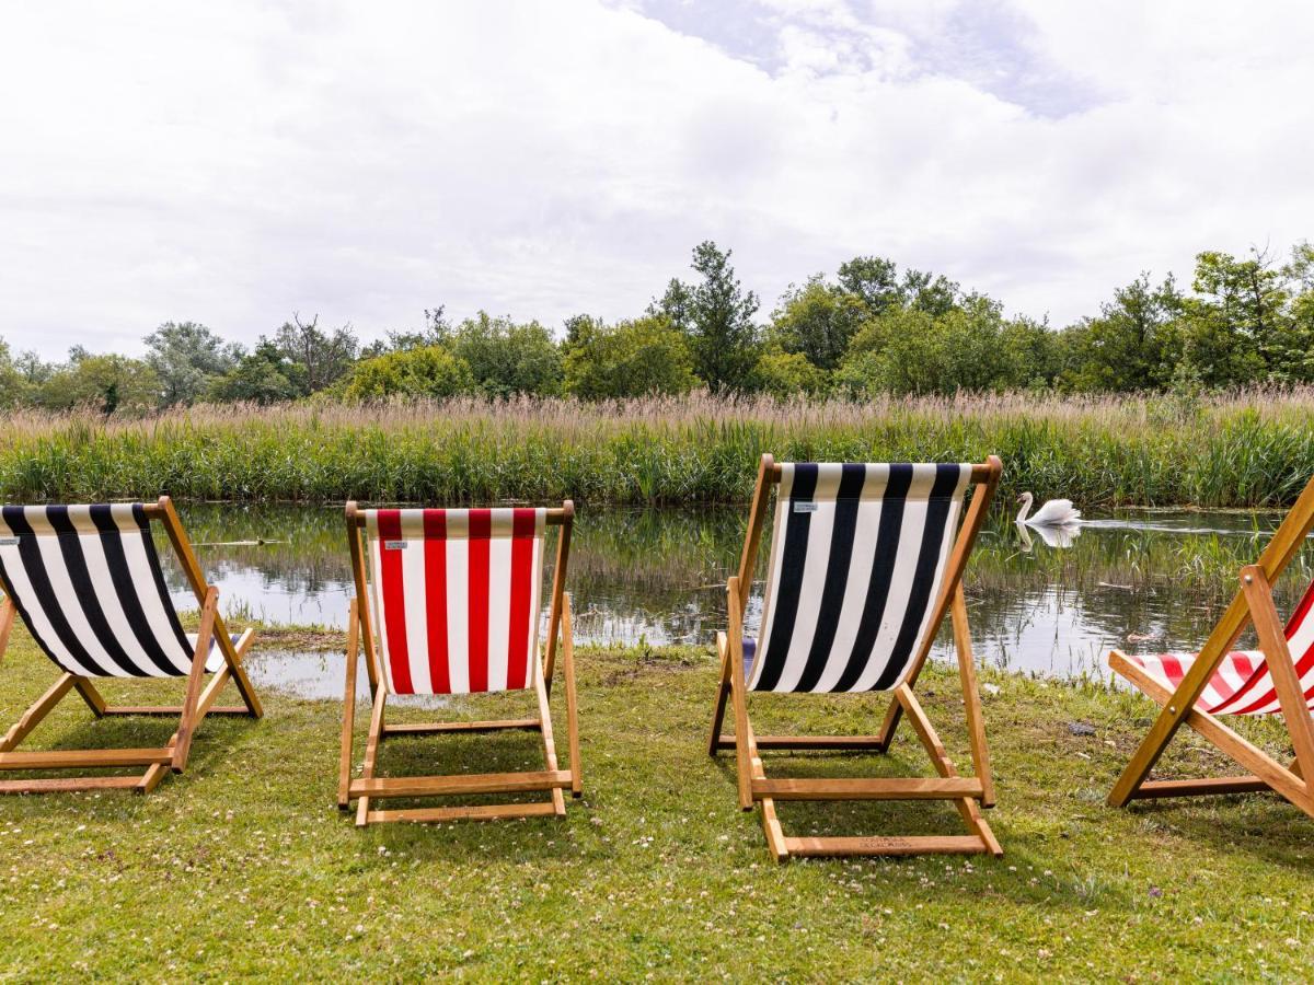
[[[1135,684],[1160,707],[1159,717],[1131,756],[1109,804],[1126,806],[1131,800],[1248,793],[1272,791],[1314,817],[1314,718],[1296,674],[1282,621],[1273,604],[1272,583],[1286,569],[1314,529],[1314,479],[1273,533],[1259,561],[1240,570],[1240,588],[1214,626],[1176,691],[1169,691],[1126,654],[1113,650],[1109,666]],[[1223,725],[1218,716],[1196,707],[1214,671],[1223,662],[1247,624],[1254,623],[1273,690],[1281,707],[1296,758],[1284,764]],[[1189,726],[1247,774],[1198,780],[1151,780],[1150,774],[1183,725]]]

